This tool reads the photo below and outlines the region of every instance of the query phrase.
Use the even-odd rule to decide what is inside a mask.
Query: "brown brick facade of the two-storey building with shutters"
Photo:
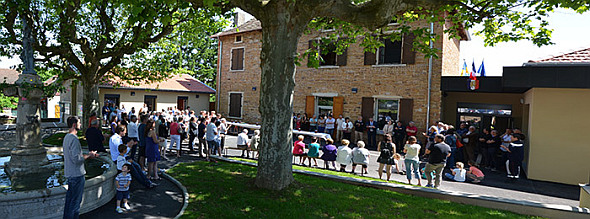
[[[415,25],[430,26],[426,22]],[[443,35],[443,28],[441,25],[434,25],[434,30],[439,36]],[[309,40],[317,39],[321,34],[302,36],[298,45],[299,54],[308,49]],[[242,41],[235,42],[236,36],[241,36]],[[224,116],[228,115],[229,94],[239,92],[243,98],[242,116],[230,119],[259,123],[261,31],[249,30],[216,37],[220,40],[221,52],[217,77],[218,111]],[[431,121],[439,120],[441,117],[441,75],[459,74],[459,43],[459,40],[448,39],[446,35],[434,43],[441,53],[438,59],[433,59]],[[237,48],[244,48],[245,51],[244,70],[240,71],[230,70],[231,51]],[[424,130],[428,96],[428,58],[416,53],[414,64],[380,66],[364,65],[364,55],[363,48],[357,43],[348,48],[345,66],[308,68],[307,58],[303,58],[302,64],[297,66],[295,75],[293,111],[304,113],[308,96],[336,95],[344,100],[343,115],[356,120],[356,117],[361,115],[363,97],[412,99],[412,120],[420,130]],[[356,88],[356,93],[353,92],[353,88]]]

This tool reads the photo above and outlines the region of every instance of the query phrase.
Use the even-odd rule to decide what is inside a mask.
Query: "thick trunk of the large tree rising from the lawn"
[[[295,58],[300,27],[290,16],[262,18],[261,151],[256,185],[281,190],[293,182],[291,160]],[[304,23],[305,24],[305,23]]]

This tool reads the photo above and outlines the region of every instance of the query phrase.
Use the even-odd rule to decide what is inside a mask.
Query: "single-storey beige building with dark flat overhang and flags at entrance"
[[[520,128],[527,138],[523,173],[529,179],[577,185],[590,181],[590,49],[522,67],[502,77],[443,77],[443,118],[480,128]]]

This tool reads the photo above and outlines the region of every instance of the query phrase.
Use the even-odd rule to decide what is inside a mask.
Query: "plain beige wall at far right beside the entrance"
[[[531,179],[576,185],[587,183],[590,146],[585,130],[590,112],[590,89],[532,88],[528,176]]]

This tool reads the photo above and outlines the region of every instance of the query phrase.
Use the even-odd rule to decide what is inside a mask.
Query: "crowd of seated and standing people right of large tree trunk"
[[[444,177],[458,182],[480,183],[485,175],[482,169],[493,172],[506,172],[510,179],[520,177],[520,169],[524,158],[525,136],[519,129],[506,129],[500,134],[499,130],[483,128],[481,132],[476,126],[464,122],[455,128],[452,125],[436,121],[425,133],[418,134],[414,122],[405,126],[400,121],[380,116],[379,122],[373,118],[363,120],[362,117],[354,122],[348,117],[339,115],[335,119],[331,114],[308,117],[306,114],[293,115],[293,128],[303,131],[322,132],[333,136],[328,139],[326,145],[316,146],[317,139],[312,138],[311,144],[304,143],[304,136],[299,136],[293,146],[293,155],[299,157],[299,164],[317,166],[316,159],[324,160],[325,168],[346,171],[346,166],[353,164],[358,159],[361,163],[368,163],[369,153],[360,153],[355,156],[353,151],[365,149],[367,146],[376,145],[380,153],[376,161],[379,178],[383,172],[390,180],[391,172],[395,168],[397,173],[406,175],[408,183],[417,179],[417,185],[421,185],[421,178],[427,179],[427,187],[438,188]],[[376,133],[383,134],[383,140],[376,141]],[[366,136],[366,138],[365,138]],[[424,137],[423,143],[417,137]],[[341,142],[341,146],[333,145],[333,142]],[[357,142],[350,144],[350,142]],[[353,147],[356,146],[356,147]],[[316,149],[316,147],[319,147]],[[323,152],[322,155],[316,151]],[[309,160],[309,164],[305,161]],[[340,168],[336,168],[337,162]],[[420,163],[425,166],[420,169]],[[480,169],[480,167],[482,169]],[[384,170],[385,168],[385,170]],[[445,168],[450,172],[443,175]],[[465,169],[466,168],[466,169]],[[361,171],[364,174],[366,171]]]

